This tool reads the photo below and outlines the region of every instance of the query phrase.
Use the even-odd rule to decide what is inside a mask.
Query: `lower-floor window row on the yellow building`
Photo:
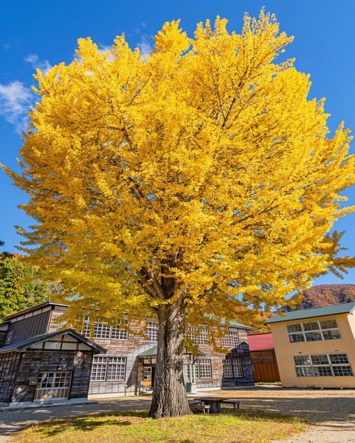
[[[297,377],[348,377],[353,375],[346,353],[294,356]]]

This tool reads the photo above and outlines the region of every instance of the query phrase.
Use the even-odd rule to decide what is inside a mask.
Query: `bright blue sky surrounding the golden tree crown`
[[[239,32],[244,12],[257,16],[262,6],[276,14],[281,31],[295,36],[286,55],[296,58],[298,70],[310,73],[310,98],[326,97],[331,132],[343,120],[355,132],[354,0],[12,0],[1,2],[0,14],[0,162],[17,169],[21,129],[35,102],[35,68],[70,63],[77,38],[91,37],[105,48],[125,33],[132,48],[147,52],[165,21],[180,18],[180,26],[192,36],[196,23],[219,15],[229,19],[229,31]],[[0,240],[13,251],[21,240],[13,226],[29,223],[17,208],[27,196],[1,171],[0,191]],[[346,196],[355,205],[355,189]],[[339,220],[335,228],[346,231],[343,245],[355,255],[355,215]],[[355,270],[344,280],[330,274],[315,281],[342,282],[355,283]]]

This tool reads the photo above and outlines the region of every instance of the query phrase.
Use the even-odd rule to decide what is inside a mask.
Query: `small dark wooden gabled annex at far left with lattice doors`
[[[92,358],[103,352],[72,329],[3,346],[0,404],[87,398]]]

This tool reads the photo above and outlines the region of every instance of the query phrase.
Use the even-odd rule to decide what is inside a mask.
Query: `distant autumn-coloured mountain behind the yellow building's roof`
[[[304,298],[294,309],[318,308],[355,301],[355,284],[317,284],[302,292]],[[290,311],[285,306],[283,311]]]

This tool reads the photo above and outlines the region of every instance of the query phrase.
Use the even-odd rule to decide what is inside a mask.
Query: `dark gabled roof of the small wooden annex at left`
[[[31,338],[27,338],[26,340],[19,341],[18,343],[12,343],[3,348],[0,348],[0,353],[6,352],[23,352],[26,351],[31,346],[41,343],[44,341],[50,341],[51,338],[59,338],[60,336],[69,335],[72,338],[75,338],[77,341],[84,343],[86,346],[93,348],[96,353],[106,353],[106,349],[99,346],[97,343],[89,340],[88,338],[82,336],[80,333],[75,332],[73,329],[64,329],[64,331],[56,331],[52,333],[43,333],[40,336],[35,336]]]

